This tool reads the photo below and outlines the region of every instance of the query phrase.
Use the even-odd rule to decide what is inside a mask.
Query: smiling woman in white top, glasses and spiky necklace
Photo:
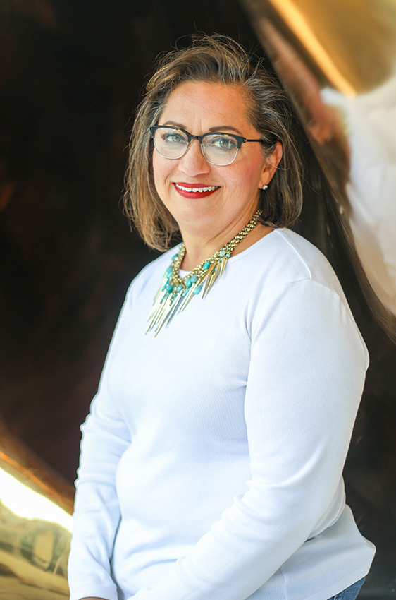
[[[287,98],[238,44],[163,59],[126,204],[149,245],[183,244],[132,283],[82,428],[71,600],[357,596],[374,548],[342,467],[369,359],[287,229],[301,171]]]

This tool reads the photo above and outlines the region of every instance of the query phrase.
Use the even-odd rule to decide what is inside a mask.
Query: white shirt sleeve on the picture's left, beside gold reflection
[[[73,536],[68,561],[70,600],[98,596],[118,600],[111,578],[110,557],[120,520],[116,493],[116,470],[130,445],[130,431],[109,388],[109,366],[118,337],[128,320],[130,294],[106,357],[99,391],[82,425],[80,467],[76,481]]]

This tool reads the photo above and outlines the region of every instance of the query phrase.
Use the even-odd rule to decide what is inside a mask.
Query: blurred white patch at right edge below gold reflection
[[[366,275],[396,315],[396,74],[355,97],[326,88],[323,102],[341,109],[351,152],[350,225]]]

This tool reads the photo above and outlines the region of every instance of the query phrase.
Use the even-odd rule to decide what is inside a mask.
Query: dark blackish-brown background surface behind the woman
[[[120,208],[142,85],[156,56],[193,32],[226,33],[262,51],[236,0],[0,0],[0,8],[0,411],[73,481],[79,426],[125,291],[155,256]],[[307,156],[314,161],[309,148]],[[390,599],[395,350],[361,298],[317,181],[297,230],[332,261],[371,353],[345,469],[349,504],[378,546],[361,597]]]

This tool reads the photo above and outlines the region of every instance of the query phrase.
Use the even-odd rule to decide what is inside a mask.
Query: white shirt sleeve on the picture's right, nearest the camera
[[[252,478],[134,600],[243,600],[320,532],[340,484],[368,354],[345,300],[288,284],[252,320],[245,420]]]

